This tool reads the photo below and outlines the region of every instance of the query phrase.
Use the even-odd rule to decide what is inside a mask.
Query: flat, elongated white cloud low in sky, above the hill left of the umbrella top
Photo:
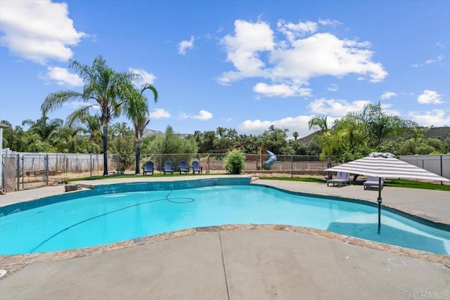
[[[347,115],[347,112],[361,112],[364,105],[370,103],[371,101],[368,100],[356,100],[349,103],[347,100],[321,98],[309,103],[309,108],[315,115],[343,117]]]

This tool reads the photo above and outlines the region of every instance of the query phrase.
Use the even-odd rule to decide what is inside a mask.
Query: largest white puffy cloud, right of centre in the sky
[[[322,23],[328,24],[327,21]],[[280,20],[277,29],[284,38],[279,34],[276,36],[266,22],[236,20],[234,34],[221,40],[234,70],[223,72],[217,81],[231,84],[240,79],[259,77],[271,82],[265,82],[265,86],[259,84],[258,89],[271,86],[272,89],[298,90],[313,77],[356,74],[359,79],[377,82],[387,76],[383,65],[373,62],[368,41],[315,33],[317,23],[310,21],[293,24]],[[293,86],[289,88],[288,85]],[[297,96],[297,93],[291,96]]]

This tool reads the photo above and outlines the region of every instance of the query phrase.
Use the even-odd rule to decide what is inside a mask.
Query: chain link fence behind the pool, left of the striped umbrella
[[[184,160],[189,167],[193,161],[199,162],[203,174],[226,174],[224,169],[225,153],[188,153],[188,154],[143,154],[139,173],[148,161],[155,164],[155,174],[162,172],[165,161],[172,162],[174,171]],[[295,176],[302,174],[323,175],[326,162],[318,156],[277,155],[276,162],[269,170],[264,170],[267,155],[245,155],[245,174],[259,176]],[[61,154],[61,153],[24,153],[17,152],[2,155],[3,182],[5,192],[38,188],[58,184],[69,178],[82,178],[103,175],[103,155]],[[135,155],[108,155],[108,174],[135,174]]]

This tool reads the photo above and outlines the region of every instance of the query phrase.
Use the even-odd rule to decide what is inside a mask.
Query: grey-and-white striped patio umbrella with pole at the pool
[[[425,169],[409,164],[394,157],[392,153],[372,152],[367,157],[340,164],[325,171],[347,172],[378,177],[378,233],[381,226],[381,181],[382,178],[407,178],[429,181],[450,181]]]

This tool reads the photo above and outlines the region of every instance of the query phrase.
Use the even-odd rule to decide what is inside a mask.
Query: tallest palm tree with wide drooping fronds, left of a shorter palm
[[[79,100],[86,103],[86,106],[75,110],[72,115],[82,115],[89,112],[92,107],[99,107],[103,129],[103,176],[108,175],[108,125],[112,119],[120,116],[127,86],[131,79],[138,75],[132,72],[115,72],[106,65],[102,56],[97,56],[92,66],[82,65],[77,60],[71,60],[69,67],[83,79],[83,92],[57,91],[51,93],[42,103],[41,111],[45,114],[62,107],[65,103]]]

